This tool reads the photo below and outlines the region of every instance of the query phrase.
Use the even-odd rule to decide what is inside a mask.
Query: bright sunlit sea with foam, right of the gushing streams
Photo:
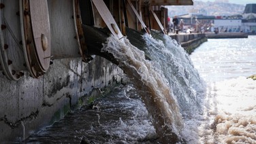
[[[198,143],[256,143],[256,36],[208,39],[191,54],[207,83]]]

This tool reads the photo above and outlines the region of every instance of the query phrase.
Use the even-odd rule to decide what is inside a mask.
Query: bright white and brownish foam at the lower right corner
[[[216,82],[208,89],[205,117],[199,132],[202,143],[256,143],[256,81],[238,77]],[[212,112],[214,111],[214,112]],[[210,120],[214,120],[210,122]],[[207,124],[208,123],[208,124]]]

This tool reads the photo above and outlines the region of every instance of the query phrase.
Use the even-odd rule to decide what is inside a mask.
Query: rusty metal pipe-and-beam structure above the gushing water
[[[89,62],[93,57],[85,37],[91,33],[83,31],[84,25],[108,27],[117,39],[126,36],[126,27],[166,34],[163,5],[193,5],[193,0],[0,1],[0,71],[11,80],[25,71],[39,78],[54,59],[82,57]]]

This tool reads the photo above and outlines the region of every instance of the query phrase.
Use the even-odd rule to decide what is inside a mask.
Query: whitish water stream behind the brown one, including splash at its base
[[[163,39],[156,40],[148,35],[143,38],[147,44],[147,54],[163,71],[173,95],[178,100],[184,128],[182,137],[187,143],[198,143],[197,125],[203,120],[204,96],[206,84],[194,68],[189,54],[185,52],[177,41],[163,35]]]

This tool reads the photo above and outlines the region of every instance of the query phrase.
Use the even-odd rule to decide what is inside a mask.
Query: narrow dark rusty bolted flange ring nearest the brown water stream
[[[85,39],[84,39],[84,31],[82,29],[82,19],[80,14],[80,5],[78,0],[73,1],[74,8],[74,20],[75,20],[75,28],[76,28],[76,37],[78,40],[78,46],[80,50],[80,54],[82,56],[83,62],[90,62],[93,58],[88,54],[88,49],[86,47]]]

